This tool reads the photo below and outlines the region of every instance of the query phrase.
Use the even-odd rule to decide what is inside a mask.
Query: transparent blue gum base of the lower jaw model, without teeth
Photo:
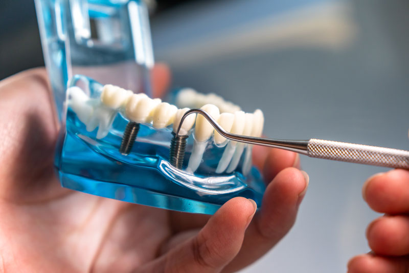
[[[85,76],[75,76],[71,86],[76,85],[88,89],[94,98],[98,98],[102,90],[100,83]],[[131,153],[125,156],[118,150],[128,120],[120,113],[114,118],[108,135],[97,139],[98,128],[87,132],[85,125],[67,107],[65,132],[62,127],[55,160],[62,186],[190,213],[213,214],[223,203],[238,196],[251,198],[261,205],[265,186],[259,171],[252,167],[251,172],[243,176],[240,162],[235,172],[216,174],[224,148],[215,146],[213,141],[209,141],[198,170],[189,174],[183,170],[192,151],[192,134],[188,138],[183,168],[178,170],[169,163],[171,128],[154,129],[149,124],[141,124],[137,141]]]

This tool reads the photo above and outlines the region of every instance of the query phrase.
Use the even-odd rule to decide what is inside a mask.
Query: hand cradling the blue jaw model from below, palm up
[[[161,96],[170,75],[153,69]],[[46,72],[0,82],[0,271],[233,271],[291,228],[308,176],[298,155],[254,148],[268,183],[262,209],[245,198],[213,216],[166,211],[62,188],[53,171],[58,125]],[[295,167],[291,167],[295,166]]]

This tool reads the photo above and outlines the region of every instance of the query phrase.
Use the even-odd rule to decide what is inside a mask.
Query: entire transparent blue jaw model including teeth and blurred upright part
[[[55,167],[64,187],[191,213],[213,214],[236,196],[261,204],[251,146],[214,133],[202,116],[188,116],[175,134],[189,108],[203,108],[226,131],[259,136],[261,111],[245,114],[190,89],[175,106],[150,98],[154,60],[143,0],[35,4],[61,123]]]

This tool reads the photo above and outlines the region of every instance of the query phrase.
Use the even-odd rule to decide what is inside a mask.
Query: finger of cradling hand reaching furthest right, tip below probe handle
[[[226,267],[227,271],[253,263],[287,234],[296,220],[308,181],[305,172],[287,168],[269,183],[261,211],[248,226],[240,253]]]

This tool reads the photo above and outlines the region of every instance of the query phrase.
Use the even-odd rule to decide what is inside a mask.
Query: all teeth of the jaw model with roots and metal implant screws
[[[69,106],[77,114],[79,120],[85,124],[86,130],[91,132],[98,127],[97,139],[108,134],[118,112],[129,120],[121,143],[121,147],[123,144],[127,145],[126,152],[121,152],[123,155],[129,154],[133,141],[137,137],[139,124],[150,124],[157,130],[172,128],[170,162],[178,169],[181,169],[183,164],[186,139],[192,134],[194,141],[185,170],[187,173],[197,171],[209,141],[213,141],[219,149],[224,148],[215,170],[216,173],[235,171],[241,158],[243,158],[242,173],[246,175],[251,170],[252,145],[225,139],[205,117],[189,115],[181,124],[178,135],[176,131],[181,118],[188,110],[201,108],[217,120],[217,123],[226,132],[259,137],[264,124],[263,113],[259,109],[254,113],[244,113],[240,111],[240,107],[225,101],[218,95],[204,95],[193,89],[183,89],[178,92],[176,102],[180,109],[168,102],[162,102],[161,99],[152,99],[142,93],[134,94],[130,90],[112,85],[105,85],[100,97],[97,98],[90,98],[79,87],[71,87],[67,93],[69,94]],[[131,133],[129,133],[130,130]],[[213,139],[211,139],[212,135]]]

